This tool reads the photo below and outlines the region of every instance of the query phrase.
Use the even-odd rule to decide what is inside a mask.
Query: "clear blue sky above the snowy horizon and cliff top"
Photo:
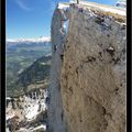
[[[51,36],[51,20],[57,2],[69,0],[7,0],[7,38]],[[89,0],[114,4],[117,0]]]

